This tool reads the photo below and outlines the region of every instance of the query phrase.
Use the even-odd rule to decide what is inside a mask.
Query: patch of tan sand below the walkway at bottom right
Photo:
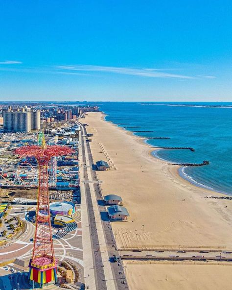
[[[131,290],[231,290],[231,266],[128,265]],[[139,288],[139,287],[140,288]]]

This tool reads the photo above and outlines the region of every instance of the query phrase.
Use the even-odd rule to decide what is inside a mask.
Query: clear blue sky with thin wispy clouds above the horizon
[[[0,1],[0,100],[232,101],[232,1]]]

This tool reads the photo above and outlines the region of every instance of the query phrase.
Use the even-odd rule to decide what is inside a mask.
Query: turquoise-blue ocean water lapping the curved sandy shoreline
[[[134,133],[141,137],[170,137],[148,139],[152,146],[193,147],[153,152],[154,156],[176,163],[210,164],[184,167],[183,178],[199,186],[232,194],[232,103],[154,103],[98,102],[107,114],[106,121],[128,123],[125,130],[153,131]]]

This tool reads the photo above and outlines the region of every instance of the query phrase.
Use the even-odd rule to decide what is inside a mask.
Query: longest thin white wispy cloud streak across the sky
[[[160,69],[132,69],[132,68],[120,68],[120,67],[104,67],[93,65],[63,65],[56,66],[58,70],[66,71],[84,71],[84,72],[105,72],[105,73],[119,73],[128,75],[138,75],[143,77],[163,77],[163,78],[185,78],[194,79],[195,77],[176,73],[164,73],[160,72]]]

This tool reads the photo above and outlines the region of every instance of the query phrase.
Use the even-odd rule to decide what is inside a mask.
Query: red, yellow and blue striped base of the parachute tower
[[[32,282],[37,283],[37,287],[43,288],[45,285],[55,284],[57,281],[57,264],[41,269],[39,267],[32,266],[32,261],[29,263],[28,278]]]

